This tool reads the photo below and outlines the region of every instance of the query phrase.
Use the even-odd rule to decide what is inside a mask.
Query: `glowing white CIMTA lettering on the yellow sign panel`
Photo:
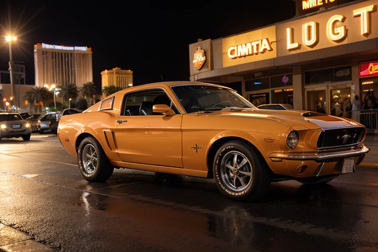
[[[241,45],[233,45],[228,48],[228,57],[231,59],[242,58],[254,54],[273,51],[268,38],[263,38]]]

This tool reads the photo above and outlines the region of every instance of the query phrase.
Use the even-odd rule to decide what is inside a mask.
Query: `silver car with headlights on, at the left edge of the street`
[[[22,137],[24,141],[29,141],[32,134],[30,127],[30,123],[23,120],[19,113],[0,113],[0,139]]]

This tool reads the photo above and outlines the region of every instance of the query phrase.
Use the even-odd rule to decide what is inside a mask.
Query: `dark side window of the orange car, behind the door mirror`
[[[127,95],[127,94],[126,94]],[[153,112],[153,106],[165,104],[171,107],[176,114],[179,114],[171,99],[164,91],[151,90],[131,93],[124,98],[123,116],[152,116],[161,115]]]

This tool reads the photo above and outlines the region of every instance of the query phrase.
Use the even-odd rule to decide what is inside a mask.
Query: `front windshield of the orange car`
[[[255,108],[235,91],[212,86],[182,85],[172,87],[187,113],[220,111],[226,107]]]

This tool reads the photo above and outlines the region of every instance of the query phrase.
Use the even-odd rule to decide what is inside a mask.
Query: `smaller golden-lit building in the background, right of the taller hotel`
[[[122,89],[132,87],[132,71],[122,70],[120,67],[101,72],[101,89],[116,86]]]

